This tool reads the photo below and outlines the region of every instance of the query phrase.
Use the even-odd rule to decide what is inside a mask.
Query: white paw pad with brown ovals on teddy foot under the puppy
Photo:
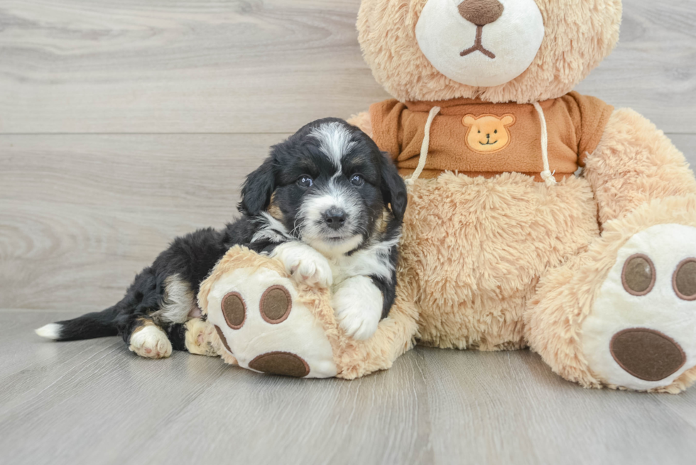
[[[275,270],[237,269],[208,296],[208,321],[239,366],[298,378],[328,378],[337,367],[324,329]]]

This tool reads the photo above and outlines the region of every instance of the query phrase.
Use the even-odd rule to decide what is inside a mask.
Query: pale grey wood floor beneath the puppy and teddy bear
[[[4,464],[687,464],[696,390],[584,390],[529,351],[418,347],[356,381],[298,380],[0,311]]]

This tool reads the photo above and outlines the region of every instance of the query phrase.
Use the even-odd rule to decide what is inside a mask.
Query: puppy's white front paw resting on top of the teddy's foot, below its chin
[[[288,242],[276,247],[271,257],[279,258],[286,271],[298,283],[328,288],[333,283],[331,266],[326,257],[301,242]]]

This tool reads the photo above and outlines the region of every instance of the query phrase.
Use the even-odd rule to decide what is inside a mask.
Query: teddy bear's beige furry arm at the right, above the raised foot
[[[602,140],[585,160],[601,224],[653,199],[696,194],[687,161],[662,131],[631,109],[611,114]]]

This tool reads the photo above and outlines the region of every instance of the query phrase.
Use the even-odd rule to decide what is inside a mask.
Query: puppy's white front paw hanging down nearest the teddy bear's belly
[[[349,337],[364,341],[377,330],[382,316],[382,292],[370,278],[354,276],[335,292],[332,305],[340,327]]]

